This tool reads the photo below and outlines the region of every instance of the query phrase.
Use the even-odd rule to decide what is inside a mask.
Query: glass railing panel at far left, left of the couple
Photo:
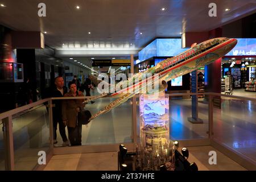
[[[39,105],[13,116],[15,170],[32,170],[38,164],[38,152],[49,150],[49,116]]]

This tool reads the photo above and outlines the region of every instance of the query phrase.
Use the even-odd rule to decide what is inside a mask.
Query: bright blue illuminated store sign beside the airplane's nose
[[[256,55],[256,39],[237,39],[237,45],[226,56]]]

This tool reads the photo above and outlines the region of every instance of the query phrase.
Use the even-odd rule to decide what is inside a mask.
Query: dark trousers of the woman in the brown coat
[[[82,142],[82,125],[68,127],[68,139],[71,146],[81,146]]]

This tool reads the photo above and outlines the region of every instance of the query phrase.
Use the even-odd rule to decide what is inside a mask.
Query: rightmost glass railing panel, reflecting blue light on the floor
[[[256,102],[221,97],[214,108],[213,139],[256,161]]]

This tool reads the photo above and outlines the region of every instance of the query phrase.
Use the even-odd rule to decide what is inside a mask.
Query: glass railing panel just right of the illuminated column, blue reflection
[[[172,140],[208,138],[208,102],[205,98],[199,98],[192,104],[190,96],[170,96],[169,107],[170,138]],[[193,118],[193,122],[191,122],[191,118]]]

